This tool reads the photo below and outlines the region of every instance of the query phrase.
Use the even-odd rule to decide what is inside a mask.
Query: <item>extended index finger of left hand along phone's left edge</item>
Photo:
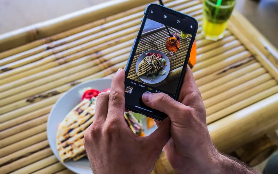
[[[108,99],[107,121],[120,121],[125,124],[125,70],[119,69],[111,84]]]

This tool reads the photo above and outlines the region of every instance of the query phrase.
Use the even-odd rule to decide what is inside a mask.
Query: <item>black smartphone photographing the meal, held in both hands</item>
[[[177,100],[198,28],[193,17],[150,4],[125,68],[126,109],[162,121],[165,113],[142,102],[143,93]]]

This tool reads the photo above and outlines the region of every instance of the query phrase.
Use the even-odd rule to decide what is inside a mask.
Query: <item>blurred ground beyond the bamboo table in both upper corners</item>
[[[106,1],[0,0],[0,34]],[[236,9],[278,48],[278,0],[237,0]]]

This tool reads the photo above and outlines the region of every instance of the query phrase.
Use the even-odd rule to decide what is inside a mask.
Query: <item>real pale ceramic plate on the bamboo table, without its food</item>
[[[50,144],[50,148],[52,149],[56,157],[60,160],[60,162],[61,159],[56,149],[56,132],[57,132],[58,124],[63,121],[67,113],[69,113],[69,111],[71,111],[72,108],[74,108],[77,104],[81,102],[82,96],[79,93],[79,90],[90,87],[102,91],[104,89],[110,88],[111,82],[112,79],[103,78],[103,79],[94,79],[94,80],[90,80],[78,84],[73,88],[71,88],[70,90],[68,90],[54,104],[47,120],[47,139]],[[145,129],[144,132],[146,135],[151,134],[157,128],[155,126],[148,130],[146,126],[146,119],[143,119],[142,124],[143,124],[143,128]],[[76,162],[68,161],[62,164],[75,173],[92,174],[90,163],[87,158],[82,158],[81,160]]]

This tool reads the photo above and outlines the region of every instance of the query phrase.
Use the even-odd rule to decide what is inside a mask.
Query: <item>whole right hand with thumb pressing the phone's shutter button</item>
[[[220,153],[209,135],[204,103],[189,66],[178,101],[164,93],[145,93],[142,101],[171,119],[172,138],[164,150],[173,169],[179,173],[211,173]]]

